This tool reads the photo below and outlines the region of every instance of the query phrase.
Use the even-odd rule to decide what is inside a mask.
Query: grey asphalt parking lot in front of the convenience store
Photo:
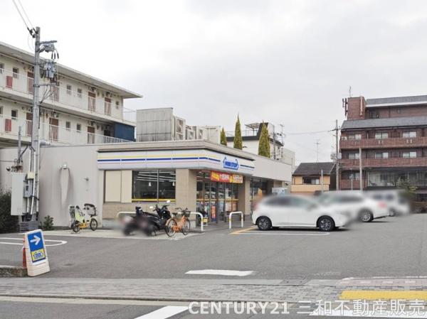
[[[418,214],[387,217],[330,233],[315,229],[259,232],[235,228],[181,240],[46,235],[48,240],[66,243],[48,247],[51,272],[45,276],[128,279],[223,276],[186,274],[205,269],[244,271],[256,279],[426,276],[426,227],[427,215]],[[21,235],[1,237],[16,238],[19,242]],[[19,244],[0,244],[0,264],[19,265],[20,249]]]

